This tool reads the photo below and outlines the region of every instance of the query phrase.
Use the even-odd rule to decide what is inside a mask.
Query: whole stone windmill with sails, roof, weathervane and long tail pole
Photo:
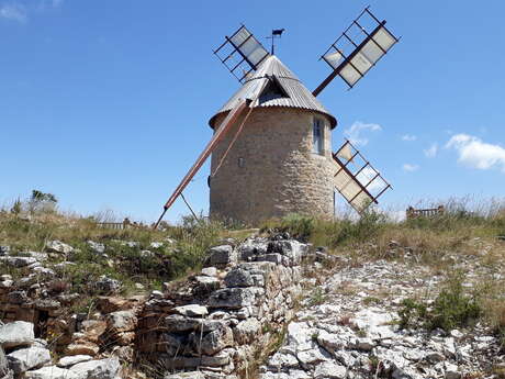
[[[212,154],[210,215],[255,223],[288,213],[335,215],[338,191],[358,212],[377,203],[391,186],[350,141],[333,153],[337,120],[316,97],[339,76],[349,89],[399,40],[367,7],[322,55],[329,76],[310,91],[242,25],[214,54],[242,83],[209,121],[214,131],[176,188],[167,210]]]

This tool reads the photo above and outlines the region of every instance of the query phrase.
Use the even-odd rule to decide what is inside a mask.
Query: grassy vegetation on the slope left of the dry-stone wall
[[[0,244],[9,245],[11,254],[35,250],[44,252],[48,241],[59,239],[75,248],[67,258],[75,266],[67,266],[59,272],[69,283],[69,289],[83,296],[96,296],[90,283],[105,275],[123,283],[123,293],[136,292],[134,285],[139,282],[148,289],[158,289],[164,281],[181,278],[198,270],[207,249],[220,238],[227,236],[221,223],[193,219],[182,220],[180,225],[164,231],[149,227],[106,230],[97,226],[93,219],[59,214],[56,211],[36,212],[31,219],[20,214],[0,211]],[[176,241],[169,244],[166,238]],[[87,244],[93,241],[105,245],[105,255],[94,253]],[[137,242],[127,246],[123,242]],[[158,248],[152,242],[161,242]],[[145,254],[149,250],[152,254]],[[53,256],[49,266],[64,260]],[[14,278],[27,275],[26,269],[8,267],[7,272]]]

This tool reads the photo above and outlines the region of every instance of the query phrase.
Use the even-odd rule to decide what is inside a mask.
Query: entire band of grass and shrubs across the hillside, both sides
[[[505,207],[503,203],[470,207],[467,202],[450,201],[445,209],[436,218],[401,222],[373,210],[358,220],[325,221],[291,214],[265,222],[260,232],[289,233],[314,246],[326,246],[332,254],[350,255],[357,264],[408,256],[431,267],[434,275],[447,277],[447,281],[433,299],[407,299],[400,309],[402,326],[451,328],[484,321],[503,336],[505,344],[505,241],[500,238],[505,236]],[[134,292],[135,283],[158,289],[162,281],[198,270],[209,247],[220,239],[250,234],[250,231],[233,231],[229,224],[192,216],[183,218],[178,225],[165,224],[157,231],[103,228],[98,224],[103,219],[111,216],[63,214],[57,209],[56,197],[33,191],[31,198],[0,210],[0,245],[9,245],[15,255],[44,252],[48,241],[69,244],[75,250],[67,258],[77,265],[66,266],[59,272],[54,291],[71,290],[89,299],[97,294],[90,283],[102,275],[119,279],[125,293]],[[103,244],[103,254],[97,254],[89,241]],[[64,258],[50,259],[57,264]],[[468,274],[464,267],[454,270],[465,258],[479,261],[489,272],[478,278],[479,286],[470,289],[463,286]],[[29,274],[23,268],[8,270],[15,277]]]

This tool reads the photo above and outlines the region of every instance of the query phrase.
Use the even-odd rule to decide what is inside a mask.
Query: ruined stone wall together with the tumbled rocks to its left
[[[36,269],[15,281],[9,275],[0,278],[0,320],[5,323],[0,345],[10,372],[5,379],[54,379],[56,374],[91,379],[97,372],[100,379],[146,378],[125,372],[121,361],[142,368],[147,378],[176,379],[187,372],[183,377],[217,379],[252,372],[255,361],[293,317],[301,294],[300,264],[308,246],[284,237],[251,237],[239,245],[225,241],[210,249],[206,267],[184,282],[165,283],[164,291],[148,297],[103,296],[89,313],[68,312],[76,293],[48,296],[45,283],[55,274],[41,264],[45,257],[34,256],[45,253],[3,255],[2,263]],[[111,291],[119,286],[109,278],[98,285]],[[30,342],[5,343],[13,327],[30,334]],[[40,359],[30,358],[25,349],[36,350]]]

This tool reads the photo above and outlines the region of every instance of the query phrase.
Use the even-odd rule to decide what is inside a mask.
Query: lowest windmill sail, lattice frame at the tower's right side
[[[333,158],[335,188],[358,213],[377,204],[379,197],[391,188],[349,141],[333,154]]]

